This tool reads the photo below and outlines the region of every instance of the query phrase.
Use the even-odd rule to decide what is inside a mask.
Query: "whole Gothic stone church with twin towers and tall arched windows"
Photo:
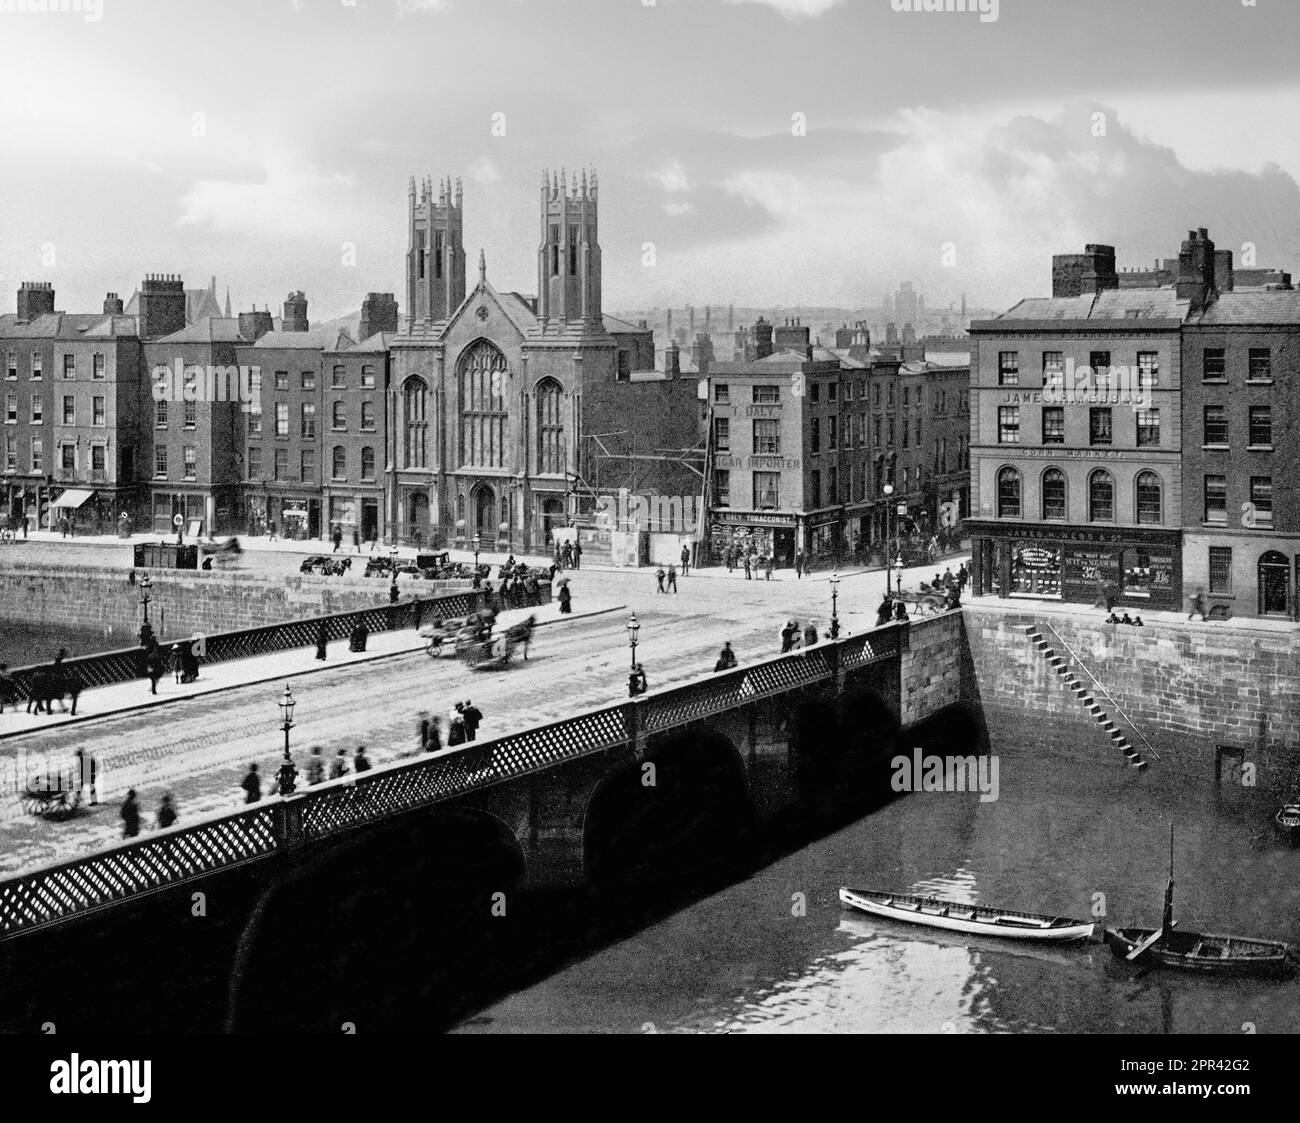
[[[573,513],[584,393],[653,368],[604,317],[595,173],[542,175],[537,295],[465,291],[458,179],[410,187],[406,331],[390,341],[387,524],[399,541],[547,550]]]

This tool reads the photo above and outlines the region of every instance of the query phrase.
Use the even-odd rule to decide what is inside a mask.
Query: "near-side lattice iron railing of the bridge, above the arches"
[[[448,610],[447,600],[438,599],[439,610]],[[374,623],[403,626],[403,621],[411,623],[415,611],[419,610],[408,602],[325,619],[351,620],[373,615]],[[455,611],[454,607],[451,611]],[[365,623],[372,626],[369,619]],[[318,621],[302,623],[308,629],[309,642],[315,642],[316,633],[311,629],[316,624]],[[329,626],[343,628],[342,624]],[[291,628],[287,634],[298,633]],[[338,634],[346,634],[346,628]],[[835,677],[837,665],[842,671],[881,663],[897,652],[897,629],[892,628],[822,643],[685,686],[655,691],[637,702],[578,714],[495,741],[378,767],[361,776],[351,775],[311,788],[289,799],[272,797],[233,815],[214,816],[183,829],[122,842],[110,850],[32,871],[0,883],[0,940],[259,860],[289,846],[329,838],[391,815],[628,745],[636,736],[638,717],[642,733],[671,729],[748,706],[759,698],[824,682]],[[291,825],[286,827],[286,823]]]

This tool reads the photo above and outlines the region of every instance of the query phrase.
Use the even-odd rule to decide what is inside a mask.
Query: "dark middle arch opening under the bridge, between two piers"
[[[597,888],[698,881],[742,859],[753,829],[736,745],[693,725],[653,738],[644,760],[595,785],[582,814],[584,871]]]

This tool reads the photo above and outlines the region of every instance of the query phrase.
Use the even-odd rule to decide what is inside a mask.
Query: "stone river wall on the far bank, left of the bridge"
[[[389,582],[377,577],[318,577],[294,573],[259,577],[247,571],[152,571],[150,620],[161,636],[233,632],[332,612],[387,604]],[[460,593],[468,581],[417,581],[398,586],[403,599]],[[142,620],[140,587],[126,571],[92,565],[58,569],[10,564],[0,569],[0,621],[31,625],[112,628],[134,643]]]

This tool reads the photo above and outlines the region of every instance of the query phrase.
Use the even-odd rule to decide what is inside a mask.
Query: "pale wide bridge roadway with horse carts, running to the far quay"
[[[628,604],[641,621],[637,658],[651,688],[677,685],[712,671],[729,639],[741,664],[780,650],[786,619],[829,617],[824,574],[796,581],[744,577],[688,577],[680,594],[658,595],[647,571],[572,574],[575,603]],[[840,586],[844,634],[875,621],[883,574],[850,574]],[[326,759],[338,749],[367,746],[374,764],[415,750],[421,711],[442,714],[472,698],[484,711],[480,738],[554,721],[627,698],[629,664],[625,611],[556,623],[534,633],[529,662],[503,672],[473,672],[452,656],[422,652],[373,663],[321,667],[292,680],[298,707],[291,751],[302,772],[312,745]],[[118,808],[127,788],[139,793],[143,825],[153,825],[157,803],[170,792],[181,823],[235,810],[239,782],[256,760],[269,784],[283,740],[278,729],[278,684],[263,682],[200,695],[143,711],[52,727],[6,740],[0,763],[20,754],[68,767],[83,747],[99,762],[100,806],[64,823],[22,814],[17,799],[0,803],[0,877],[92,853],[121,837]],[[446,724],[446,723],[443,723]],[[5,760],[4,758],[10,758]],[[304,782],[304,781],[300,781]]]

